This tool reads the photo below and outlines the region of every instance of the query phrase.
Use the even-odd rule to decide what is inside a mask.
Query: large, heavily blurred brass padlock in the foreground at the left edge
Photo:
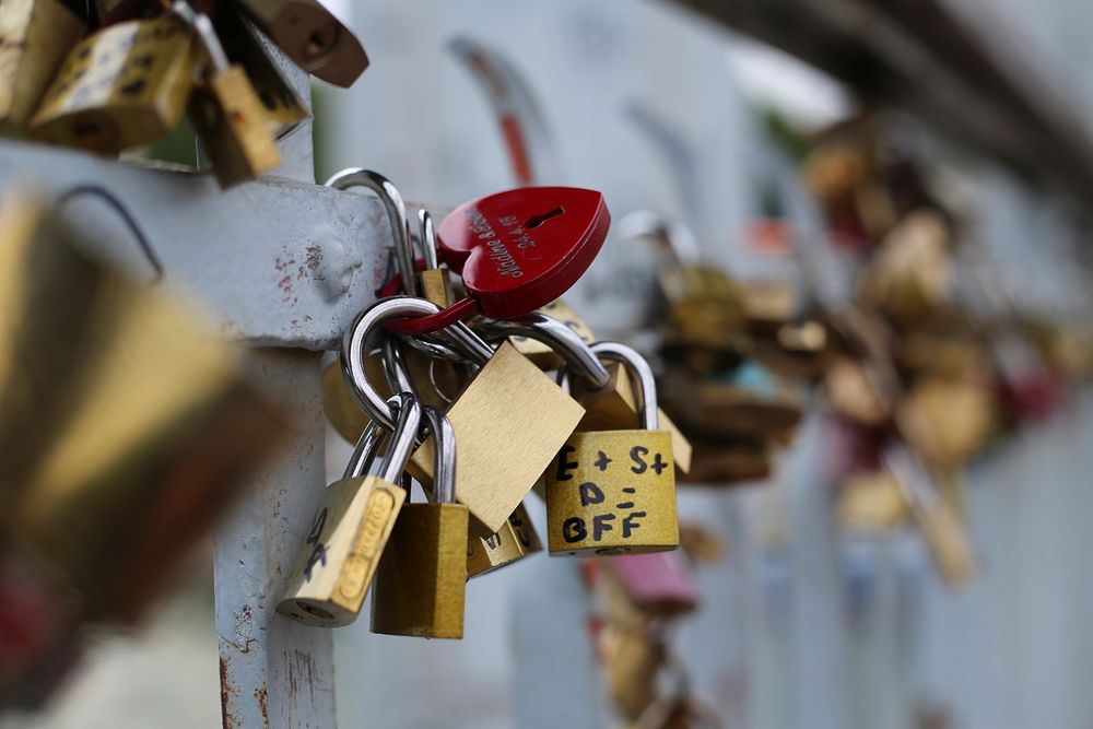
[[[242,349],[40,203],[7,196],[0,231],[0,524],[85,614],[139,620],[287,421]]]

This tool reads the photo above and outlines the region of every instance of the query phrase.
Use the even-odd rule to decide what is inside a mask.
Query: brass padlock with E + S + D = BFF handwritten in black
[[[621,362],[639,383],[643,430],[577,432],[565,442],[545,474],[550,552],[672,550],[679,545],[672,437],[657,430],[653,372],[623,344],[598,342],[592,351]]]

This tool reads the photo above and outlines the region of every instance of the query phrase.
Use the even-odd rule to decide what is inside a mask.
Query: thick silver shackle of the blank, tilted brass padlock
[[[342,373],[350,385],[353,399],[373,421],[378,421],[384,427],[395,427],[395,413],[388,402],[368,381],[364,369],[364,357],[371,350],[371,342],[380,326],[388,319],[407,316],[425,316],[436,314],[439,307],[422,298],[409,296],[392,296],[383,298],[361,311],[353,320],[342,341]],[[459,321],[442,330],[454,344],[466,351],[468,356],[479,365],[484,365],[493,356],[493,350],[475,334],[470,327]]]

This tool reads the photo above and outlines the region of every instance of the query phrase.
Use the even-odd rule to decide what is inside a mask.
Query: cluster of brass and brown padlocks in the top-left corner
[[[281,164],[278,139],[310,116],[256,26],[331,83],[348,86],[368,64],[314,0],[5,2],[0,121],[9,134],[117,155],[185,115],[221,186],[254,179]]]

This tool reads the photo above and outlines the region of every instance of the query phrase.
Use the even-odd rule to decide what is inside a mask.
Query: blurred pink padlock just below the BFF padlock
[[[691,612],[698,588],[680,552],[622,554],[603,560],[635,608],[659,615]]]

